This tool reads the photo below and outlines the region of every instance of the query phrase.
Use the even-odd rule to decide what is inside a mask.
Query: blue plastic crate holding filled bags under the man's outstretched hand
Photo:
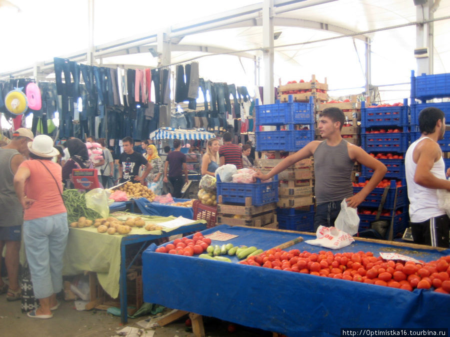
[[[253,206],[261,206],[278,201],[278,176],[273,176],[273,181],[261,183],[256,179],[254,184],[223,183],[217,176],[217,203],[221,196],[222,203],[245,204],[245,198],[251,197]]]

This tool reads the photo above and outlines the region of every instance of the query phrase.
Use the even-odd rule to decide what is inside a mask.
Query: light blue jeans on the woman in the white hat
[[[23,242],[36,299],[62,289],[62,255],[67,235],[67,213],[23,221]]]

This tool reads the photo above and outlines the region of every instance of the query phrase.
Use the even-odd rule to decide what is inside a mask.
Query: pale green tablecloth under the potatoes
[[[173,220],[174,217],[143,216],[125,212],[115,212],[114,216],[119,220],[125,220],[128,216],[140,216],[145,224],[160,224]],[[192,225],[201,221],[192,221],[186,225]],[[163,226],[162,224],[160,224]],[[175,228],[167,228],[160,231],[147,231],[143,227],[132,227],[128,236],[147,235],[148,240],[161,237],[163,233],[170,233]],[[168,234],[167,236],[169,236]],[[96,272],[98,282],[104,291],[112,298],[117,298],[119,293],[120,278],[120,242],[127,235],[108,235],[98,233],[94,227],[70,228],[67,247],[62,259],[62,275],[78,275],[84,271]]]

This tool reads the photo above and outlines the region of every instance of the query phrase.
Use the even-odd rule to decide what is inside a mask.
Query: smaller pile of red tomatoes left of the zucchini
[[[192,239],[187,237],[175,239],[173,243],[156,248],[155,252],[193,256],[203,253],[210,244],[211,239],[203,237],[201,233],[195,233]]]

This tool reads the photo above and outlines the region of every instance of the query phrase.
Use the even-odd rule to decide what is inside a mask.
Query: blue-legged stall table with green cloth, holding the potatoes
[[[164,226],[164,222],[174,219],[174,217],[136,215],[145,220],[146,224],[160,226]],[[111,216],[125,220],[130,213],[115,212]],[[122,322],[126,323],[126,271],[137,255],[146,247],[147,242],[171,235],[201,231],[205,228],[205,221],[202,220],[157,231],[133,227],[131,234],[128,235],[98,233],[94,227],[70,228],[63,256],[62,274],[77,275],[84,271],[96,272],[99,284],[109,296],[117,298],[120,293],[120,314]],[[125,263],[126,248],[135,243],[142,243],[142,245],[127,266]]]

